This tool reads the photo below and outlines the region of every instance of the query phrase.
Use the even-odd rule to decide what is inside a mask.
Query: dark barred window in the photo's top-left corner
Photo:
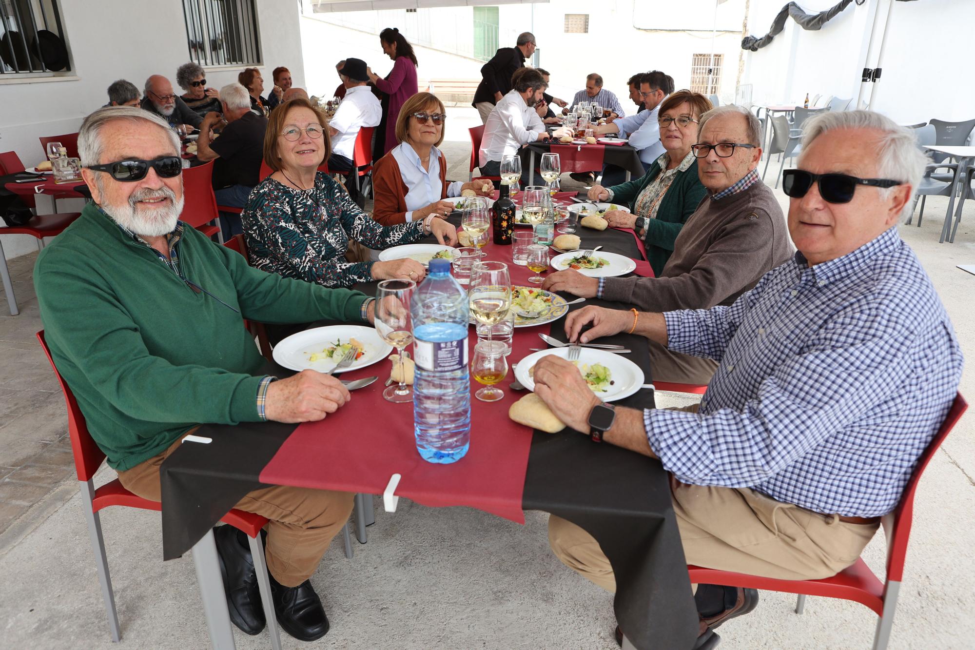
[[[71,70],[58,0],[0,0],[0,78]]]

